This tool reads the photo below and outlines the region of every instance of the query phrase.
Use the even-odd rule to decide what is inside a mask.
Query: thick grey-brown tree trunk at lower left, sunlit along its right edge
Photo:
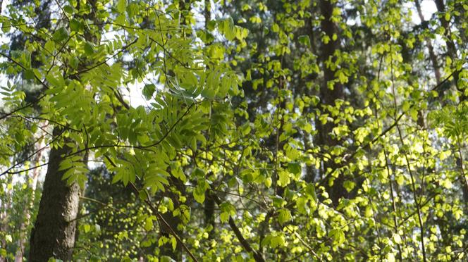
[[[61,130],[54,129],[54,136]],[[80,186],[67,185],[62,180],[64,170],[58,170],[63,154],[70,147],[52,148],[49,155],[44,188],[39,204],[39,213],[30,238],[29,261],[47,261],[54,257],[70,261],[75,244],[75,224],[80,200]]]

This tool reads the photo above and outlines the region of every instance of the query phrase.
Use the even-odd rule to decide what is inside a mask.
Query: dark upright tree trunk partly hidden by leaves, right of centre
[[[329,0],[321,0],[320,1],[320,12],[321,15],[324,17],[321,20],[321,30],[324,32],[330,40],[328,43],[323,44],[321,46],[321,64],[322,70],[324,71],[324,82],[320,88],[320,99],[323,105],[334,105],[336,99],[343,99],[343,85],[340,83],[335,83],[333,85],[333,89],[328,88],[328,82],[335,79],[335,70],[330,66],[327,66],[327,61],[331,59],[331,61],[335,61],[333,58],[333,54],[339,48],[339,39],[338,39],[338,27],[331,21],[331,16],[333,13],[334,4],[332,4]],[[333,35],[336,35],[335,40],[333,40]],[[326,111],[321,108],[322,113],[326,113]],[[323,149],[331,148],[337,145],[337,141],[331,137],[331,132],[335,124],[332,122],[327,122],[326,124],[322,125],[320,120],[316,122],[317,129],[319,131],[318,134],[318,144],[322,146]],[[326,149],[328,151],[328,149]],[[324,173],[327,173],[327,169],[331,168],[331,170],[336,168],[336,164],[331,160],[324,160]],[[339,177],[335,178],[333,182],[333,186],[328,187],[328,194],[330,195],[333,204],[338,205],[338,201],[341,197],[345,196],[346,190],[343,187],[344,177],[340,175]]]

